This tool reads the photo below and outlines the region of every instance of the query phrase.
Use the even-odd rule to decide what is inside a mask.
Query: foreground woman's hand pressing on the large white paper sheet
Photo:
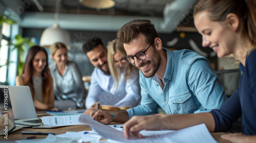
[[[143,136],[139,134],[139,131],[146,130],[160,130],[164,127],[162,120],[164,116],[133,116],[129,121],[123,125],[124,136],[129,139],[130,133],[133,136],[142,138]]]

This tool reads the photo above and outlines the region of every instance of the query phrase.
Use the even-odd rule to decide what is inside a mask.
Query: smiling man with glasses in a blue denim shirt
[[[133,20],[117,33],[124,44],[124,59],[140,69],[140,105],[112,115],[97,111],[99,122],[126,122],[134,115],[156,113],[157,104],[167,114],[208,112],[227,100],[208,60],[190,50],[169,51],[162,47],[150,20]],[[147,47],[147,48],[146,48]]]

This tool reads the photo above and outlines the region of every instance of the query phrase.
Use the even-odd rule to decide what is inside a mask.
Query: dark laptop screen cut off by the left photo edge
[[[0,135],[8,136],[15,129],[8,86],[0,87]]]

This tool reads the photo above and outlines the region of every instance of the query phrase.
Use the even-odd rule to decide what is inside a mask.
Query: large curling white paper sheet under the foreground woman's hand
[[[110,126],[103,125],[97,121],[94,121],[92,117],[81,114],[78,118],[80,123],[89,125],[99,135],[104,138],[120,141],[120,142],[212,142],[217,141],[211,136],[204,124],[188,127],[185,129],[173,131],[170,133],[146,136],[140,139],[126,139],[123,132],[113,129]]]

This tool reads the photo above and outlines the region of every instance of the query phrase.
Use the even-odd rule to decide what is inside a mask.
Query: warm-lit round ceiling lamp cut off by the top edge
[[[79,0],[84,6],[95,9],[109,9],[115,6],[113,0]]]

